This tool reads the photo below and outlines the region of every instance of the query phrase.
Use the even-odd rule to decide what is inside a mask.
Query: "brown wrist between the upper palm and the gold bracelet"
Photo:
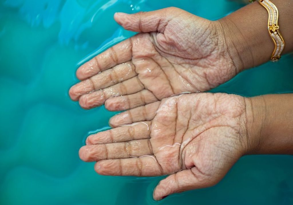
[[[228,49],[241,69],[261,65],[270,60],[274,44],[268,34],[268,14],[254,2],[219,20],[225,32]]]

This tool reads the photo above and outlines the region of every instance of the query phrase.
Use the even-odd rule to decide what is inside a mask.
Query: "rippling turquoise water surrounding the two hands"
[[[196,3],[195,3],[196,2]],[[211,4],[214,3],[214,4]],[[78,150],[115,113],[68,96],[88,57],[130,37],[116,11],[177,6],[220,18],[233,1],[0,0],[0,204],[293,204],[293,156],[245,156],[216,186],[152,199],[162,177],[100,176]],[[246,70],[213,92],[293,92],[293,56]]]

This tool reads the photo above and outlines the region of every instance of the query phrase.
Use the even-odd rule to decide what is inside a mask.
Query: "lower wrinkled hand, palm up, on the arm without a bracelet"
[[[199,93],[131,109],[110,119],[116,128],[88,136],[79,156],[97,161],[95,170],[103,175],[171,174],[157,185],[155,200],[209,187],[248,149],[245,101]]]

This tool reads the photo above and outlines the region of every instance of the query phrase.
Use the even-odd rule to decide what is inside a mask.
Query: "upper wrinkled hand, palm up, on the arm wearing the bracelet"
[[[182,92],[207,91],[241,70],[218,21],[177,8],[114,18],[140,33],[79,67],[82,81],[69,95],[85,109],[105,104],[111,111],[126,110]]]

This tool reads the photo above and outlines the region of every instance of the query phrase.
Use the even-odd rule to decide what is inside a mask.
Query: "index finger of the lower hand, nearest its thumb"
[[[101,160],[95,165],[98,174],[113,176],[159,176],[163,172],[153,155],[137,158]]]

